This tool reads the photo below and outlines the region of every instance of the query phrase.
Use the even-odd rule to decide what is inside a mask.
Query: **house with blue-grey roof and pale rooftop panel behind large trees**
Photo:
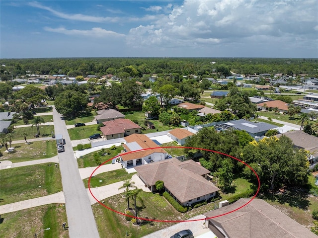
[[[254,138],[264,136],[267,131],[276,127],[277,126],[271,125],[266,122],[250,122],[244,119],[233,120],[214,126],[217,131],[224,131],[229,129],[244,130]]]

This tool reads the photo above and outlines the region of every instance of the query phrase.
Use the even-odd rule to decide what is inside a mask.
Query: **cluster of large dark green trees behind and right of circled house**
[[[262,191],[283,185],[301,186],[308,181],[308,152],[295,149],[286,136],[279,139],[264,138],[256,142],[243,131],[216,132],[203,128],[185,146],[218,151],[241,159],[257,172]],[[219,177],[219,184],[223,188],[231,187],[235,174],[257,184],[254,173],[237,160],[202,150],[186,150],[189,158],[198,152],[202,153],[201,165]]]

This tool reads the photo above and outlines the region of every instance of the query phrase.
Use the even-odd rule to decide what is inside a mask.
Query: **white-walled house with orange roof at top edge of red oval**
[[[123,144],[124,152],[137,152],[120,155],[119,158],[124,168],[158,162],[168,158],[168,153],[162,148],[159,148],[159,146],[146,135],[133,134],[125,137],[125,141],[126,144]]]

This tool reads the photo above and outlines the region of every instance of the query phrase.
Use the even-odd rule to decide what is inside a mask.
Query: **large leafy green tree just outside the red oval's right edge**
[[[307,152],[294,148],[286,136],[253,141],[244,147],[240,156],[257,172],[262,190],[303,185],[308,181]],[[256,181],[248,167],[244,168],[244,173]]]

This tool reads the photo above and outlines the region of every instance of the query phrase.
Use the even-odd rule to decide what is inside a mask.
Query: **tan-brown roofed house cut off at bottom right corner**
[[[217,238],[317,238],[305,226],[264,200],[249,200],[241,198],[233,204],[205,213],[205,226]],[[247,202],[249,203],[245,205]],[[243,207],[240,208],[241,206]],[[239,210],[234,211],[236,209]],[[220,216],[228,212],[231,213]]]

